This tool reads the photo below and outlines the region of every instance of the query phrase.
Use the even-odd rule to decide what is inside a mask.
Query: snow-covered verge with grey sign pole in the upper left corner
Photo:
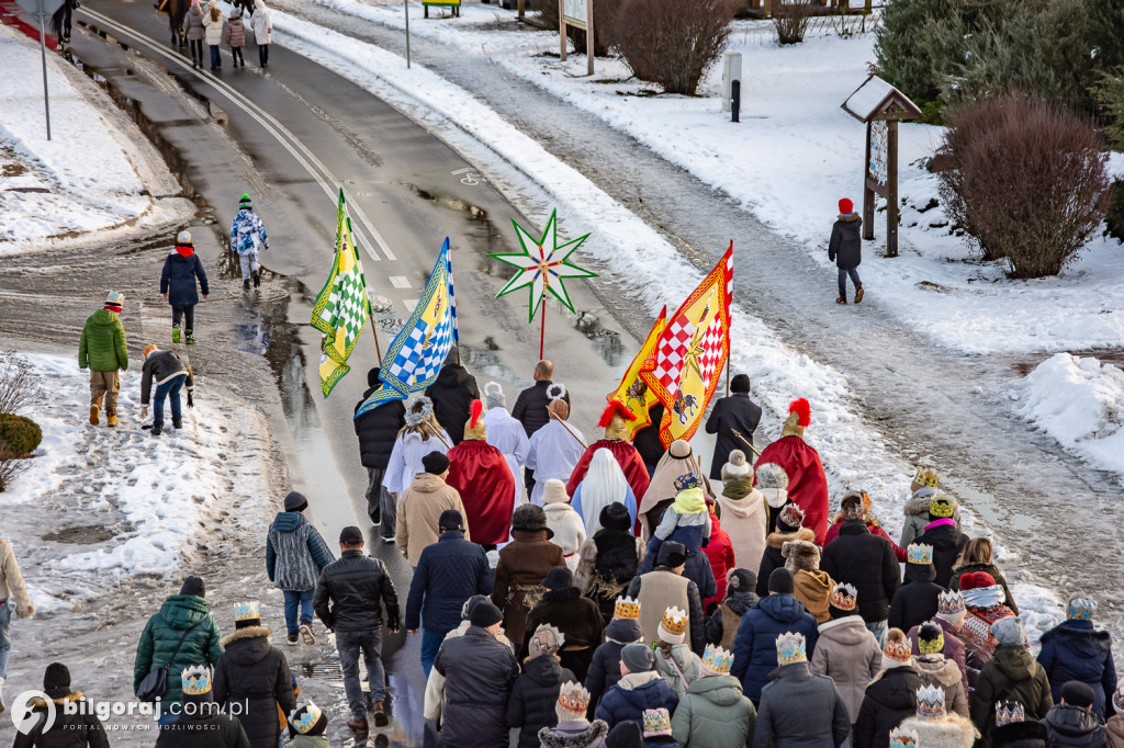
[[[0,255],[184,211],[182,200],[153,197],[179,186],[92,81],[47,55],[47,140],[37,46],[0,27]]]

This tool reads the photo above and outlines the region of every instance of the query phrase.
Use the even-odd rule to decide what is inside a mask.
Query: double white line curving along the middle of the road
[[[316,182],[320,185],[320,188],[328,195],[328,198],[330,198],[333,201],[336,200],[338,193],[334,186],[329,185],[328,182],[325,181],[325,177],[327,177],[328,181],[337,185],[343,184],[343,182],[338,177],[336,177],[332,173],[332,171],[328,170],[328,167],[325,166],[311,150],[308,149],[308,147],[300,140],[300,138],[298,138],[296,135],[289,131],[289,129],[284,125],[279,122],[277,118],[274,118],[268,111],[265,111],[264,109],[255,104],[253,101],[247,99],[245,95],[243,95],[238,90],[234,89],[225,81],[215,77],[214,75],[208,76],[205,75],[202,71],[192,69],[191,66],[188,65],[187,60],[182,55],[180,55],[178,51],[169,52],[167,49],[164,48],[164,46],[161,43],[156,42],[152,37],[140,34],[139,31],[136,31],[123,24],[119,24],[114,19],[109,18],[108,16],[105,16],[96,10],[90,10],[89,8],[80,8],[79,12],[85,13],[87,16],[93,18],[94,20],[100,21],[105,26],[108,26],[111,29],[116,30],[121,36],[132,36],[134,39],[146,42],[148,46],[151,46],[157,54],[163,55],[173,64],[176,64],[180,67],[182,67],[184,72],[191,73],[200,81],[209,83],[216,90],[224,93],[230,100],[232,103],[234,103],[244,112],[253,117],[255,120],[257,120],[257,122],[262,127],[269,130],[269,133],[273,135],[274,138],[277,138],[278,143],[280,143],[285,148],[285,150],[288,150],[292,155],[292,157],[296,158],[300,163],[300,165],[305,167],[305,170],[312,176],[312,179],[316,180]],[[282,137],[282,134],[284,135],[284,137]],[[287,142],[287,139],[291,140],[292,143],[290,144],[289,142]],[[299,149],[301,153],[298,153],[297,149]],[[314,168],[314,165],[316,166],[316,168]],[[317,170],[319,170],[319,172],[317,172]],[[363,209],[355,203],[351,203],[351,210],[355,215],[355,217],[360,220],[360,222],[363,225],[363,227],[366,228],[368,230],[369,234],[369,237],[366,237],[368,241],[364,241],[363,244],[364,248],[366,249],[366,253],[371,256],[371,258],[374,259],[375,262],[381,259],[381,257],[379,257],[370,246],[370,243],[373,239],[373,241],[378,244],[379,247],[382,248],[382,252],[387,256],[387,259],[397,261],[398,258],[395,256],[395,253],[390,250],[390,246],[387,244],[386,239],[382,238],[382,235],[379,234],[379,230],[374,228],[374,226],[371,224],[370,219],[366,217],[366,213],[363,212]]]

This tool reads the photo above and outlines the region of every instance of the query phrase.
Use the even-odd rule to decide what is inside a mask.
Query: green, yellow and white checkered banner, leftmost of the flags
[[[320,338],[320,391],[327,398],[336,383],[351,371],[347,358],[355,348],[363,326],[371,316],[366,298],[366,277],[352,240],[351,219],[344,191],[339,190],[336,209],[336,254],[328,280],[316,295],[311,325]]]

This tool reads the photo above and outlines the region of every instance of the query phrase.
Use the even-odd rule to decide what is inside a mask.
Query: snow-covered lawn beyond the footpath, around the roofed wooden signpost
[[[318,0],[319,4],[405,28],[401,4]],[[780,47],[769,21],[735,21],[729,49],[742,54],[742,121],[722,110],[722,71],[701,97],[649,95],[656,86],[631,77],[618,60],[556,58],[558,35],[510,30],[511,13],[475,3],[462,18],[424,20],[410,8],[413,35],[487,55],[531,83],[600,117],[701,181],[723,190],[783,236],[795,238],[831,273],[826,243],[836,202],[862,201],[864,126],[840,106],[873,62],[873,34],[841,38],[814,28],[804,44]],[[504,21],[508,21],[505,25]],[[555,56],[550,56],[553,53]],[[1115,239],[1094,239],[1061,277],[1010,281],[1003,263],[982,263],[949,232],[936,177],[925,171],[942,128],[906,124],[900,131],[899,194],[906,206],[900,257],[882,258],[886,216],[860,268],[868,295],[949,348],[970,354],[1124,346],[1124,263]],[[1124,174],[1124,156],[1112,171]],[[860,208],[861,210],[861,208]],[[735,243],[736,253],[736,243]]]

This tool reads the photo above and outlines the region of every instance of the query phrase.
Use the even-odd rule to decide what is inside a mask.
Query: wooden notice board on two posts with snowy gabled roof
[[[886,199],[886,255],[898,256],[898,122],[924,115],[906,94],[870,75],[843,102],[843,111],[867,125],[862,191],[862,238],[874,238],[874,195]]]

